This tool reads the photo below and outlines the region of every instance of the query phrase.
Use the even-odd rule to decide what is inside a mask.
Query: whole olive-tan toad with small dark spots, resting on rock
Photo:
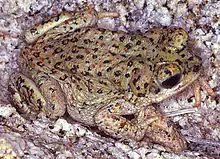
[[[117,13],[63,12],[29,29],[9,81],[14,105],[28,117],[66,111],[76,121],[116,138],[150,139],[173,151],[184,137],[152,104],[184,90],[200,75],[201,60],[179,27],[127,34],[97,28]],[[133,115],[133,119],[126,118]]]

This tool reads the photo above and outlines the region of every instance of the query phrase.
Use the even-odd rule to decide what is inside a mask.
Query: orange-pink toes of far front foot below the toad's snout
[[[212,98],[216,97],[215,92],[210,87],[208,82],[204,78],[200,78],[198,81],[195,81],[194,83],[194,95],[195,95],[195,106],[196,107],[200,107],[201,105],[201,88],[203,90],[206,90]]]

